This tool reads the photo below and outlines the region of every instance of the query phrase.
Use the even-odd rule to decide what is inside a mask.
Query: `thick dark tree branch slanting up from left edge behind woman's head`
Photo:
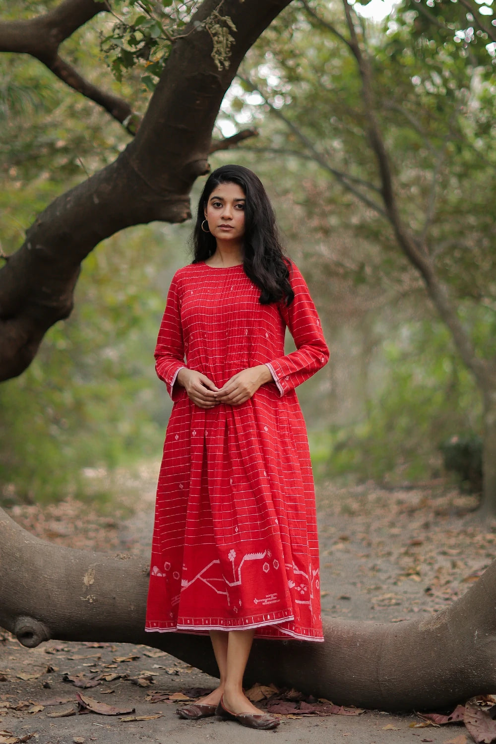
[[[138,133],[117,160],[39,215],[22,248],[0,269],[0,379],[30,364],[42,337],[71,312],[80,263],[118,230],[190,217],[189,193],[207,173],[216,115],[239,62],[290,0],[224,0],[239,31],[222,71],[203,23],[218,0],[204,0],[177,39]]]

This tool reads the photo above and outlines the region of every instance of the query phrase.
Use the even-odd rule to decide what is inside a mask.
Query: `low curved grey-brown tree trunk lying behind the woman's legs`
[[[141,562],[59,548],[0,510],[0,565],[0,625],[25,646],[48,638],[147,644],[216,674],[206,636],[144,632],[148,568]],[[427,620],[328,620],[323,644],[257,641],[246,682],[387,711],[454,705],[496,690],[495,604],[496,561]]]

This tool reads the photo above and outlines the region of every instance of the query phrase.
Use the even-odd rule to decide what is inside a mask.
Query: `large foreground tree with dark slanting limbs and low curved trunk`
[[[100,240],[139,222],[189,217],[188,194],[207,171],[222,97],[245,51],[287,4],[204,0],[193,9],[170,42],[135,139],[115,162],[57,197],[1,269],[2,379],[22,373],[47,328],[71,311],[80,262]],[[108,12],[106,4],[94,0],[64,0],[39,19],[6,22],[0,25],[0,48],[34,54],[74,81],[77,76],[59,61],[59,43],[102,6]],[[83,88],[81,80],[78,85]],[[93,93],[101,103],[101,92]],[[152,642],[213,671],[207,638],[144,635],[147,568],[138,562],[61,551],[25,533],[1,511],[0,560],[0,623],[26,646],[54,636]],[[332,621],[325,644],[309,650],[292,643],[292,654],[283,658],[275,644],[261,641],[248,677],[294,684],[335,702],[391,709],[447,705],[489,691],[496,682],[495,574],[493,565],[454,606],[423,622],[391,627]]]

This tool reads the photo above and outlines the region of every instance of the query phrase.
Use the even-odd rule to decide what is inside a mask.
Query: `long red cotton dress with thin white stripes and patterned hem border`
[[[174,276],[155,350],[173,411],[158,478],[147,631],[255,628],[322,641],[315,494],[294,388],[329,351],[292,264],[289,307],[259,302],[242,266]],[[286,326],[297,350],[285,356]],[[184,362],[186,358],[186,364]],[[187,366],[218,388],[267,364],[274,382],[242,405],[204,409],[175,385]]]

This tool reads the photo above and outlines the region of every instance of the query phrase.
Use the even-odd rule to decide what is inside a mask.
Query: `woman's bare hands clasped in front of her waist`
[[[178,372],[177,382],[187,392],[187,397],[199,408],[213,408],[218,403],[241,405],[257,392],[260,385],[271,382],[267,365],[249,367],[234,374],[222,388],[217,388],[208,377],[196,370],[183,367]]]

